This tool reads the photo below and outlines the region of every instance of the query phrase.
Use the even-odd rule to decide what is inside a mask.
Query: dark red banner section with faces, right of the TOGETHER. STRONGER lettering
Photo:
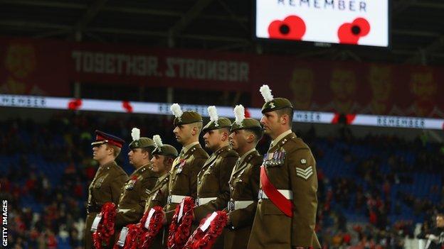
[[[443,117],[443,70],[409,65],[300,61],[262,57],[253,102],[263,104],[259,87],[290,99],[297,110],[345,114]],[[252,70],[255,72],[254,70]]]

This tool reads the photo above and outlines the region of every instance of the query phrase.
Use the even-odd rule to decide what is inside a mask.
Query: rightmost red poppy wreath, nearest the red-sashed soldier
[[[201,227],[212,214],[208,214],[206,218],[202,219],[199,228],[186,241],[184,249],[210,249],[213,246],[228,221],[226,211],[216,211],[216,214],[216,217],[213,218],[210,226],[205,231],[202,231]]]

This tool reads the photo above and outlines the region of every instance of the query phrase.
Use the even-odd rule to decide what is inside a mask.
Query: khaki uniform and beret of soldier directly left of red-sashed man
[[[240,124],[233,123],[231,132],[241,129],[260,129],[260,123],[253,118],[245,118]],[[230,201],[223,248],[247,248],[251,226],[258,205],[260,165],[263,157],[255,148],[246,152],[236,162],[230,181]]]

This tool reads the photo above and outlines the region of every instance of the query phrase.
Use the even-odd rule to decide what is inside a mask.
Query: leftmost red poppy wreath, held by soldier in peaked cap
[[[116,205],[112,202],[103,204],[100,214],[102,214],[102,220],[97,226],[97,231],[93,233],[93,242],[97,249],[101,249],[102,245],[108,245],[111,236],[114,235]]]

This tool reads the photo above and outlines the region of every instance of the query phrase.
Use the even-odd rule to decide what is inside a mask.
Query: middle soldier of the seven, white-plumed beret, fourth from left
[[[171,111],[175,116],[173,132],[183,147],[179,157],[173,162],[169,176],[169,195],[165,207],[168,224],[171,223],[174,209],[184,197],[196,199],[197,174],[208,158],[208,154],[199,144],[202,116],[196,111],[182,111],[179,104],[172,104]]]

